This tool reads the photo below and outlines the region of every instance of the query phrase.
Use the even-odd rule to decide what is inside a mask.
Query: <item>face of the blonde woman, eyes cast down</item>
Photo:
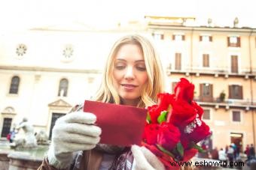
[[[114,88],[123,104],[136,106],[148,80],[142,49],[135,44],[120,47],[114,58]]]

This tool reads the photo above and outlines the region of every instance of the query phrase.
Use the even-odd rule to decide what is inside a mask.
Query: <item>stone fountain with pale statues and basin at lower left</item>
[[[20,130],[23,130],[23,133]],[[34,134],[34,127],[26,118],[15,128],[14,140],[0,145],[0,167],[3,170],[38,169],[47,152],[49,141],[41,130]]]

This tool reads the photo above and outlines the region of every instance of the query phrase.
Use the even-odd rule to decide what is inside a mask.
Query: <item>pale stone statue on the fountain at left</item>
[[[23,129],[23,135],[19,134],[20,129]],[[11,148],[35,148],[37,146],[34,127],[32,127],[32,124],[29,124],[27,118],[23,118],[23,121],[17,125],[16,130],[19,133],[15,136],[14,142],[11,143]]]

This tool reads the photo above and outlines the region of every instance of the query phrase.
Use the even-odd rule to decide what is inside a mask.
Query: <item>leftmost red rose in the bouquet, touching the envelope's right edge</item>
[[[157,143],[159,126],[159,124],[147,124],[145,126],[142,139],[149,145],[155,145]]]

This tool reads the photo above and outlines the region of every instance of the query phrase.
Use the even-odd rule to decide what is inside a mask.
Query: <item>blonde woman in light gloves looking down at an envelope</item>
[[[163,70],[154,47],[145,38],[120,38],[111,49],[95,100],[145,108],[163,92]],[[146,148],[99,144],[101,129],[83,106],[59,118],[53,127],[47,157],[39,169],[164,169]]]

